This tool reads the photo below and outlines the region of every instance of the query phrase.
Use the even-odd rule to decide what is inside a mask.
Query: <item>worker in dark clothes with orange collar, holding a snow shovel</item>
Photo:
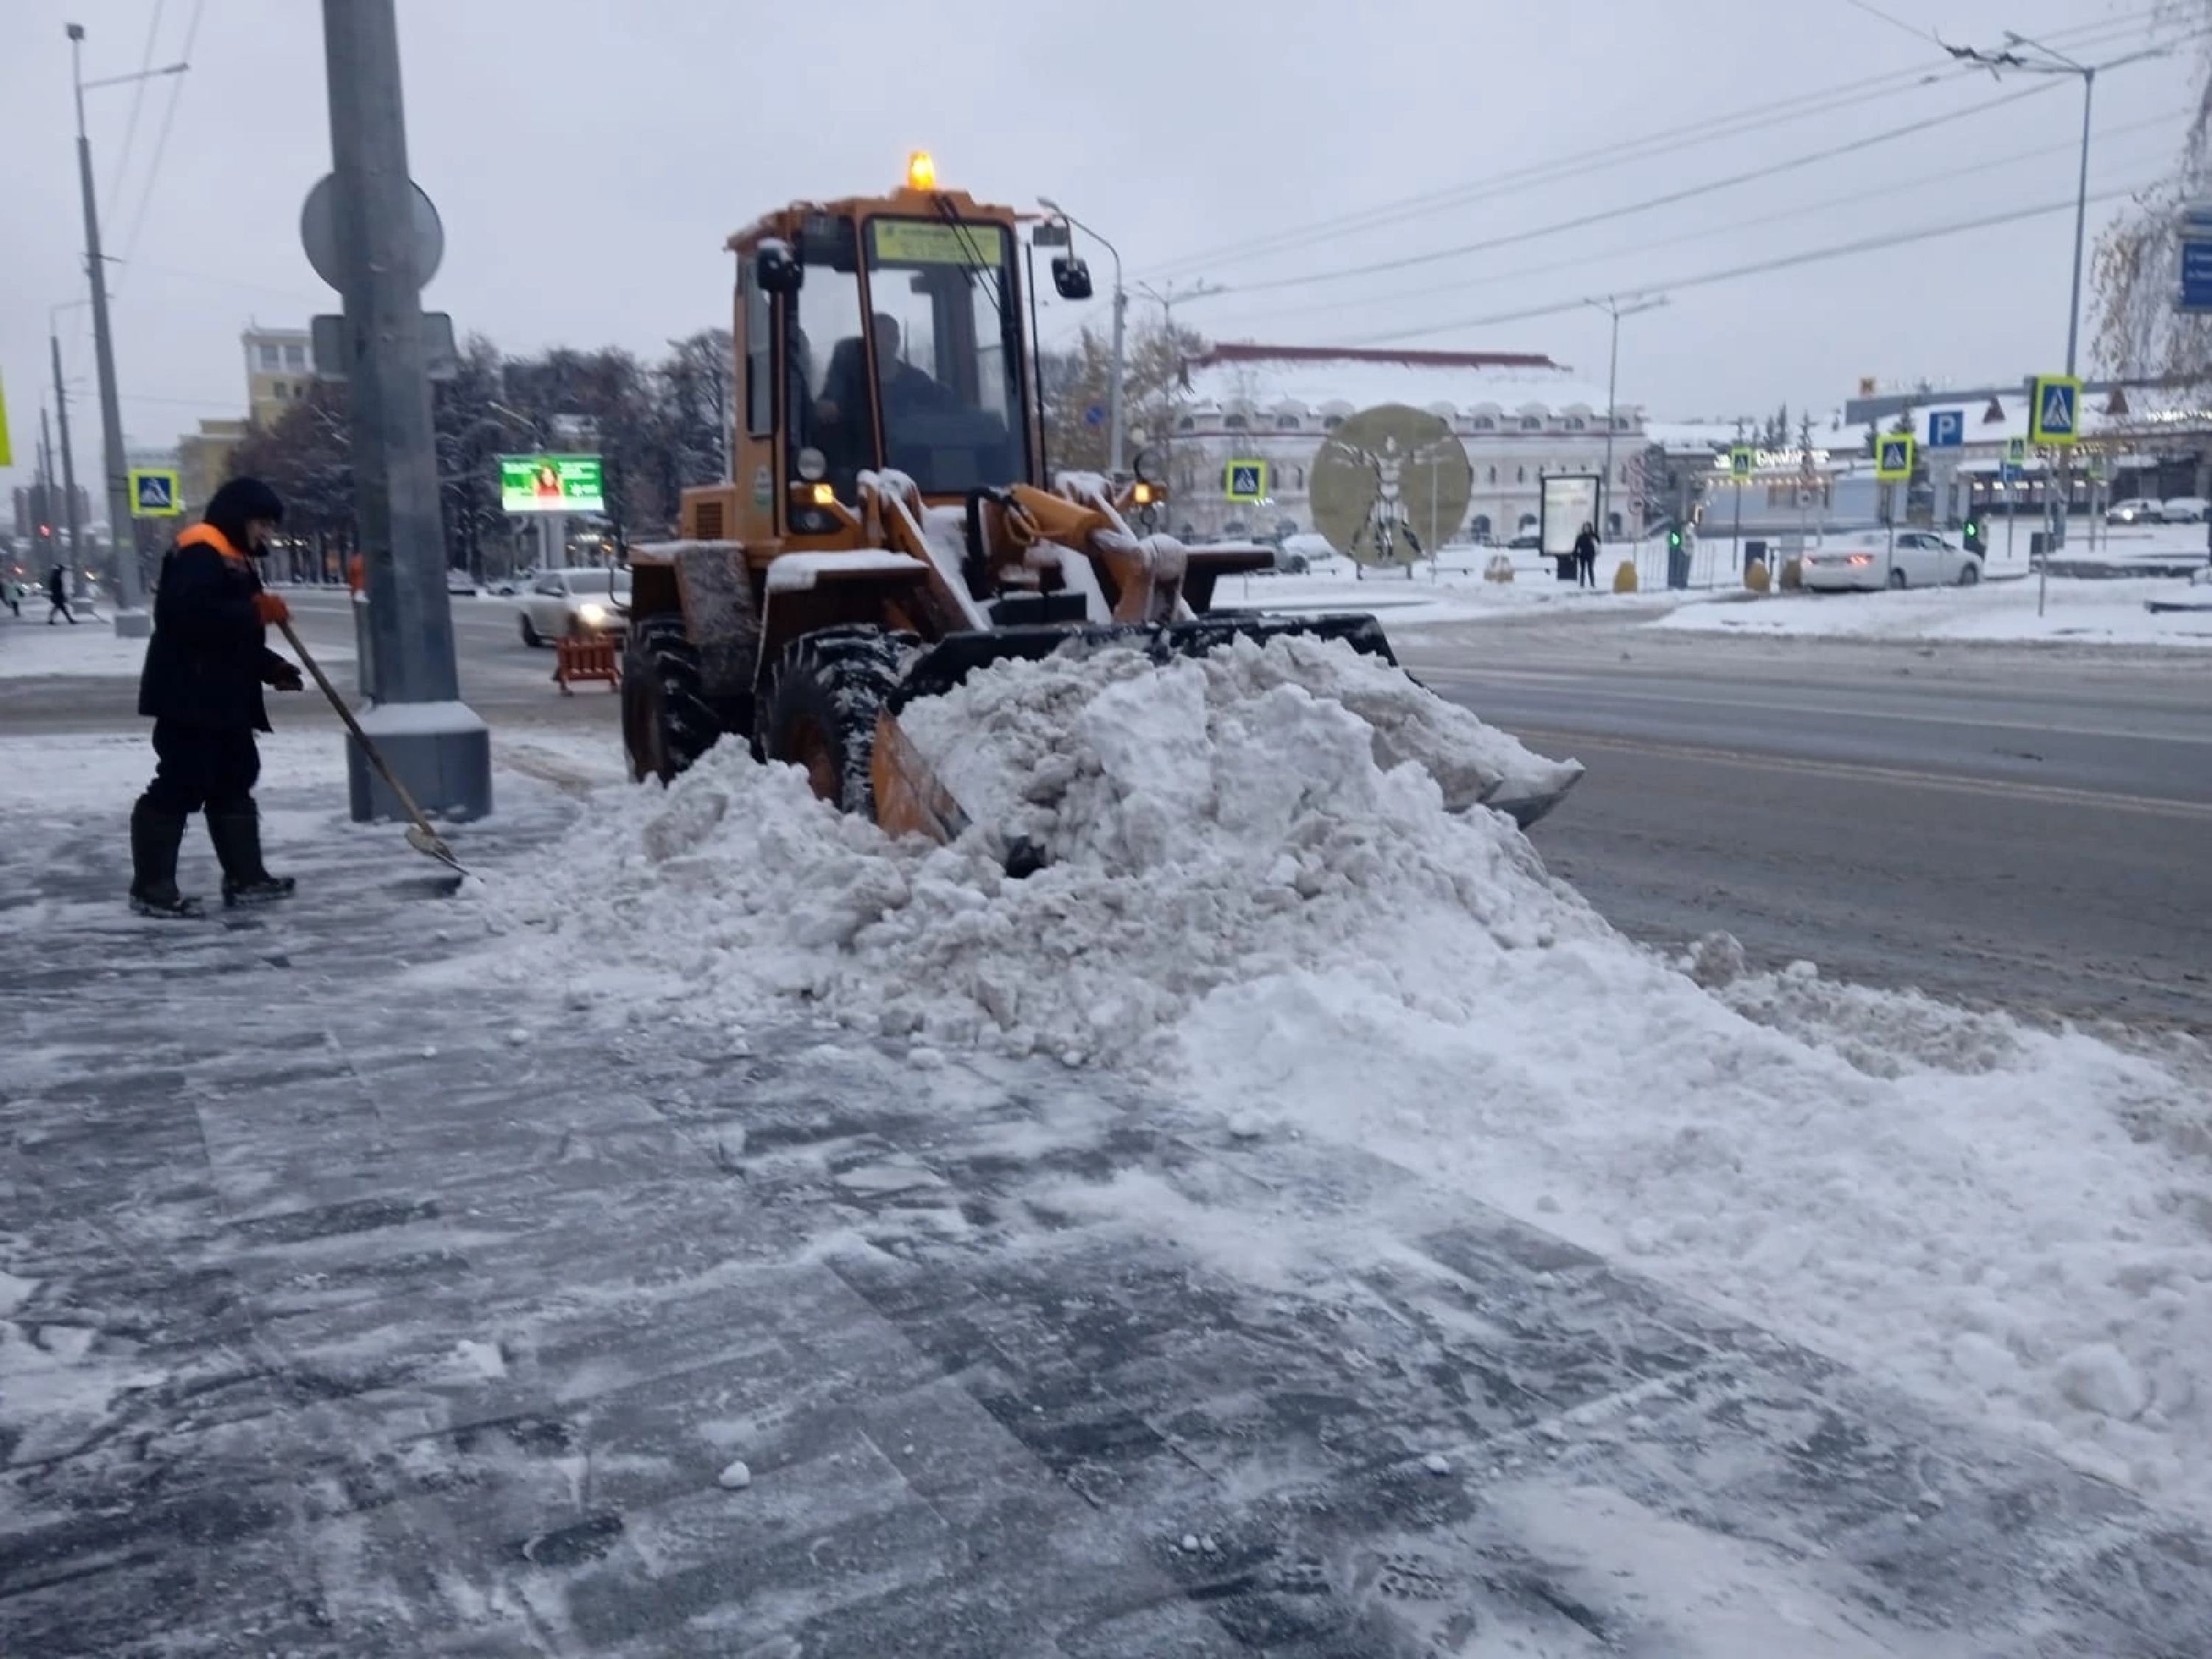
[[[177,849],[195,812],[208,818],[226,905],[292,894],[290,876],[270,876],[261,865],[254,807],[254,732],[270,730],[261,688],[301,688],[299,668],[263,644],[270,624],[292,617],[254,568],[281,522],[274,489],[232,478],[161,560],[139,679],[139,714],[153,719],[157,765],[131,810],[131,909],[139,916],[199,914],[199,900],[177,891]]]

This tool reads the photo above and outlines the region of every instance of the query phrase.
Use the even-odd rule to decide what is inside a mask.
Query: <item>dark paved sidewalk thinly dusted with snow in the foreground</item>
[[[0,801],[9,1657],[2212,1650],[2201,1533],[1402,1168],[456,1004],[323,796],[199,927]]]

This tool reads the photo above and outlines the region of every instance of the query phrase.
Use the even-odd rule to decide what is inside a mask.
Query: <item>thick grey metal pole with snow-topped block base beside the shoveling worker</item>
[[[392,0],[323,0],[332,206],[352,383],[354,526],[378,706],[361,723],[429,812],[491,810],[491,732],[460,701]],[[352,816],[403,807],[347,741]]]

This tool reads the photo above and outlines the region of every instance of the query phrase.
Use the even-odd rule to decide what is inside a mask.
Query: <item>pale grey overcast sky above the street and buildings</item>
[[[2148,44],[2154,15],[2150,0],[1880,11],[1889,20],[1854,0],[400,0],[414,173],[447,226],[427,303],[509,349],[657,352],[728,321],[730,230],[794,197],[887,188],[905,153],[929,146],[945,184],[1066,204],[1119,243],[1133,283],[1228,290],[1179,312],[1217,338],[1537,349],[1601,385],[1597,312],[1491,319],[2062,201],[2075,80],[1871,139],[2037,84],[1958,75],[1924,31],[1997,46],[2015,29],[2108,62]],[[88,95],[108,252],[128,257],[115,336],[131,440],[168,445],[201,416],[243,414],[250,319],[336,310],[299,250],[301,197],[330,159],[321,7],[0,0],[0,376],[18,458],[4,482],[27,476],[49,394],[49,307],[84,294],[66,20],[88,29],[86,77],[175,62],[197,24],[188,75],[144,97]],[[2093,192],[2166,168],[2194,53],[2099,82]],[[1938,80],[1913,84],[1913,71]],[[1725,184],[1838,148],[1851,153]],[[1542,168],[1551,177],[1531,181]],[[1409,197],[1436,201],[1345,223]],[[2093,201],[2090,230],[2115,208]],[[1582,217],[1597,221],[1555,230]],[[1290,232],[1294,246],[1250,252]],[[1863,374],[2053,369],[2070,232],[2070,212],[2051,212],[1672,288],[1624,325],[1621,398],[1652,416],[1827,411]],[[1420,259],[1473,243],[1493,246]],[[1104,296],[1110,261],[1093,254]],[[1310,281],[1356,268],[1378,270]],[[1048,305],[1046,338],[1086,314],[1104,307]],[[60,314],[86,405],[80,473],[100,431],[82,305]]]

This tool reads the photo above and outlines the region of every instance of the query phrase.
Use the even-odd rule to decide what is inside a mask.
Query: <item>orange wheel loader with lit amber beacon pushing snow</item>
[[[905,188],[730,237],[730,476],[684,491],[677,540],[630,549],[622,723],[639,781],[737,739],[845,812],[945,843],[967,814],[900,712],[975,668],[1274,635],[1394,661],[1369,615],[1214,611],[1223,575],[1274,555],[1152,533],[1148,458],[1133,478],[1048,482],[1020,226],[936,188],[918,155]],[[1053,279],[1091,292],[1079,259]]]

